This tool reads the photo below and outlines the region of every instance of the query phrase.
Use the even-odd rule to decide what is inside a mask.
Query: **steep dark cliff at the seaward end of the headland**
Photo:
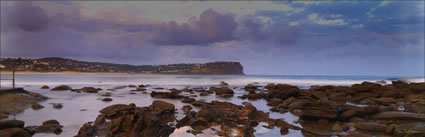
[[[182,71],[178,74],[228,74],[243,75],[243,66],[239,62],[213,62],[207,63],[203,68]]]

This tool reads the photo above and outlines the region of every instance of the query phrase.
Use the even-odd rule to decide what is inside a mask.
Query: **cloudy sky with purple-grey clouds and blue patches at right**
[[[423,1],[1,1],[1,57],[424,76]]]

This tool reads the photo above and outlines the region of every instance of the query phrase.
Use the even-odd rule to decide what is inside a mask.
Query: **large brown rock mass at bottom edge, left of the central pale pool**
[[[174,114],[165,112],[157,113],[154,111],[164,109],[159,107],[165,107],[166,110],[169,110],[171,109],[171,105],[164,101],[154,101],[149,107],[136,107],[134,105],[124,104],[112,105],[102,109],[107,113],[101,112],[102,114],[96,118],[97,122],[84,124],[75,137],[106,135],[116,137],[166,137],[175,130],[175,128],[168,124],[175,121]],[[172,106],[174,107],[174,105]],[[111,111],[115,115],[108,116]]]

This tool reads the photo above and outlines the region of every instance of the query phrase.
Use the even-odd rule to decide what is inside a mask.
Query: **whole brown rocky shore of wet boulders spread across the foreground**
[[[98,93],[102,101],[113,103],[110,97],[117,89],[131,88],[130,94],[150,94],[151,105],[114,104],[101,109],[93,122],[87,121],[76,137],[138,137],[170,136],[176,130],[198,135],[213,131],[218,136],[255,136],[256,128],[279,129],[281,135],[299,131],[306,137],[423,137],[425,136],[425,83],[393,81],[363,82],[351,86],[312,86],[301,89],[288,84],[258,83],[232,87],[221,82],[218,86],[167,89],[150,85],[117,86],[103,92],[100,88],[72,89],[67,85],[54,87],[51,92],[72,91]],[[43,89],[49,89],[43,86]],[[244,94],[235,94],[241,88]],[[168,90],[168,91],[167,91]],[[240,98],[242,105],[224,101],[205,101],[198,96]],[[167,100],[179,100],[182,108]],[[258,109],[250,103],[264,100],[271,112]],[[33,109],[42,107],[33,105]],[[180,113],[180,114],[179,114]],[[183,114],[181,114],[183,113]],[[270,113],[290,113],[299,119],[285,121],[272,118]],[[177,115],[182,115],[178,118]],[[1,123],[3,122],[3,123]],[[5,124],[6,123],[6,124]],[[18,124],[16,124],[18,123]],[[24,127],[20,122],[0,121],[0,136],[49,132],[60,133],[59,122],[54,126]],[[26,131],[25,133],[21,131]],[[14,133],[14,134],[11,134]],[[25,134],[26,135],[26,134]]]

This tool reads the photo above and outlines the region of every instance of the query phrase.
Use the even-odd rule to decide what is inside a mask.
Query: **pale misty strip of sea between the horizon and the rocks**
[[[10,78],[11,74],[1,74]],[[424,82],[423,77],[391,76],[291,76],[291,75],[149,75],[149,74],[16,74],[16,84],[25,85],[128,85],[149,84],[154,86],[211,86],[225,81],[230,85],[243,86],[253,82],[260,85],[286,83],[300,87],[311,85],[352,85],[363,81],[406,80]],[[2,81],[1,86],[11,86]]]

